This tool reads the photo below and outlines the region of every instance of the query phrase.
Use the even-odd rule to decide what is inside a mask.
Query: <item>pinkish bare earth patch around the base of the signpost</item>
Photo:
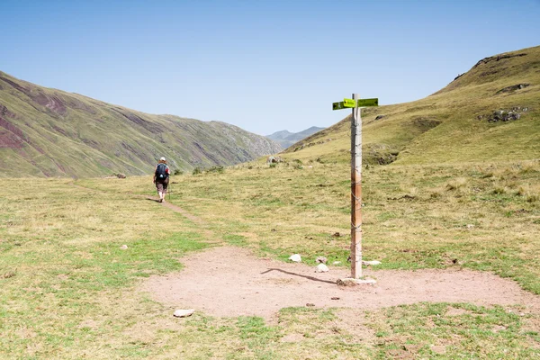
[[[218,317],[275,317],[285,307],[314,304],[374,310],[417,302],[471,302],[479,305],[526,305],[540,310],[540,297],[514,281],[470,270],[365,269],[374,285],[339,287],[346,268],[315,273],[314,266],[254,257],[245,248],[213,247],[182,259],[182,272],[151,276],[142,290],[158,302],[193,308]]]

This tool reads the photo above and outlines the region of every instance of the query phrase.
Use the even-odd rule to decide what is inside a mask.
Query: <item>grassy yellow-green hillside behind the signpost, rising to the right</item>
[[[283,155],[350,161],[350,118]],[[363,158],[369,164],[540,158],[540,47],[482,58],[424,99],[362,109],[362,121]]]

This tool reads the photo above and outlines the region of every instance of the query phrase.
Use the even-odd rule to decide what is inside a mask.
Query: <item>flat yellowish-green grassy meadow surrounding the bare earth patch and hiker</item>
[[[302,307],[283,309],[276,323],[202,312],[178,320],[138,290],[206,247],[347,266],[349,176],[347,164],[314,160],[173,176],[170,202],[200,221],[148,201],[150,176],[31,179],[27,187],[0,179],[0,358],[540,356],[540,314],[519,316],[519,305]],[[365,259],[382,269],[490,271],[540,294],[539,160],[371,166],[363,182]]]

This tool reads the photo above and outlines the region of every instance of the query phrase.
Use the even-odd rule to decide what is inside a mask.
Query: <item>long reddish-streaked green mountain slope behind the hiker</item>
[[[281,149],[224,122],[137,112],[0,72],[0,176],[143,175],[162,156],[189,170]]]

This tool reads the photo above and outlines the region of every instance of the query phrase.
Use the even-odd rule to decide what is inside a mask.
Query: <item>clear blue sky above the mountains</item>
[[[142,112],[267,135],[358,93],[425,97],[540,45],[540,0],[0,0],[0,70]]]

